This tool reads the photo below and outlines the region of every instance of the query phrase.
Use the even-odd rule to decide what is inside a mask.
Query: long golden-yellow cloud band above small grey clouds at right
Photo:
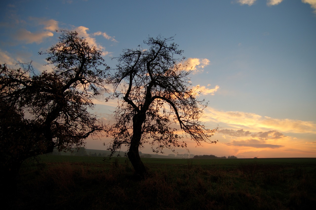
[[[316,123],[293,119],[276,119],[263,117],[254,113],[240,111],[218,111],[211,107],[204,110],[203,121],[212,121],[218,124],[226,123],[234,127],[247,127],[252,130],[271,129],[286,133],[316,134]]]

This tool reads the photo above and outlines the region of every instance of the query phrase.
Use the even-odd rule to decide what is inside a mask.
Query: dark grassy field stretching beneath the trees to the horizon
[[[25,163],[12,209],[310,209],[316,159],[143,159],[46,156]],[[13,199],[13,200],[10,200]]]

